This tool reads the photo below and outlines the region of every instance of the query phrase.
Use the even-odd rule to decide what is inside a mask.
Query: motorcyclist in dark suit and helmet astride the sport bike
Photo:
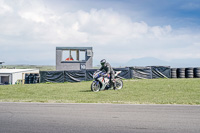
[[[116,83],[115,83],[115,72],[114,72],[114,70],[112,69],[111,65],[108,62],[106,62],[105,59],[101,60],[100,63],[101,63],[100,70],[106,71],[107,76],[110,77],[110,85],[112,86],[112,84],[113,84],[114,90],[115,90],[116,89]]]

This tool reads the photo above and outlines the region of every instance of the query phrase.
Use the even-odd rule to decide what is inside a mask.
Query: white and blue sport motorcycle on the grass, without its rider
[[[120,90],[123,88],[123,81],[118,76],[120,73],[121,71],[115,72],[115,78],[114,78],[114,81],[116,83],[115,90]],[[91,91],[98,92],[102,90],[113,89],[113,87],[111,87],[112,85],[110,84],[110,77],[108,77],[108,75],[105,72],[99,70],[96,71],[93,74],[93,79],[94,81],[91,84]]]

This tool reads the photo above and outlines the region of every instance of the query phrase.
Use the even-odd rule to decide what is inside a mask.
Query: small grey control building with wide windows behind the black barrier
[[[56,70],[84,70],[93,67],[92,47],[56,47]]]

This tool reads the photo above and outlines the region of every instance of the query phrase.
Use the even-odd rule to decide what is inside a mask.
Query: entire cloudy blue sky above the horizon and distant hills
[[[56,47],[125,64],[200,59],[199,0],[0,0],[0,61],[55,65]]]

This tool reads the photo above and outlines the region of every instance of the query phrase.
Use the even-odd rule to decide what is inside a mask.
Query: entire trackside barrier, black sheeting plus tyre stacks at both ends
[[[80,82],[93,80],[93,74],[98,69],[74,71],[40,71],[39,74],[26,74],[25,84],[45,82]],[[121,71],[124,79],[155,79],[155,78],[200,78],[200,67],[170,68],[169,66],[146,66],[114,68]]]

